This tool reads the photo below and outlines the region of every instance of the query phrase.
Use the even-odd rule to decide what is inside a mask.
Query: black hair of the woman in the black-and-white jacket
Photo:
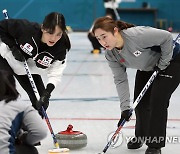
[[[61,28],[61,30],[63,31],[63,36],[65,37],[66,40],[66,46],[67,49],[69,50],[71,48],[71,43],[66,33],[67,29],[66,29],[65,18],[61,13],[51,12],[45,17],[43,21],[42,29],[48,30],[49,32],[53,33],[55,31],[56,26],[59,26],[59,28]]]

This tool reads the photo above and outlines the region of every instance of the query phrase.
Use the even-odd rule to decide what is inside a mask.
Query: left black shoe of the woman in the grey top
[[[133,137],[127,144],[128,149],[139,149],[143,146],[142,141],[138,140],[136,137]]]

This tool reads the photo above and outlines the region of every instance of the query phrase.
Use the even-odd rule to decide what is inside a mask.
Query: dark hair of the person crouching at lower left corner
[[[13,74],[0,70],[0,85],[0,101],[5,100],[8,103],[18,98],[19,93],[16,90]]]

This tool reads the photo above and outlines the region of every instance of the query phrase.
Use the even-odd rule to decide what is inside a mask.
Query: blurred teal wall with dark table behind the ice
[[[180,0],[121,0],[117,11],[121,20],[178,32],[179,7]],[[97,17],[105,15],[103,0],[0,0],[0,9],[7,9],[12,18],[39,23],[49,12],[58,11],[74,31],[89,30]]]

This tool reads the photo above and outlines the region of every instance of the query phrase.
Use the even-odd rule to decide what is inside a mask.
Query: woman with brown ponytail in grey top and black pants
[[[130,92],[127,68],[137,69],[134,100],[155,70],[158,76],[135,109],[135,137],[128,149],[148,146],[145,154],[161,154],[165,147],[169,101],[180,83],[180,49],[173,48],[171,33],[147,26],[134,26],[107,17],[98,18],[92,29],[99,43],[106,48],[105,57],[112,70],[120,99],[121,118],[128,121]]]

